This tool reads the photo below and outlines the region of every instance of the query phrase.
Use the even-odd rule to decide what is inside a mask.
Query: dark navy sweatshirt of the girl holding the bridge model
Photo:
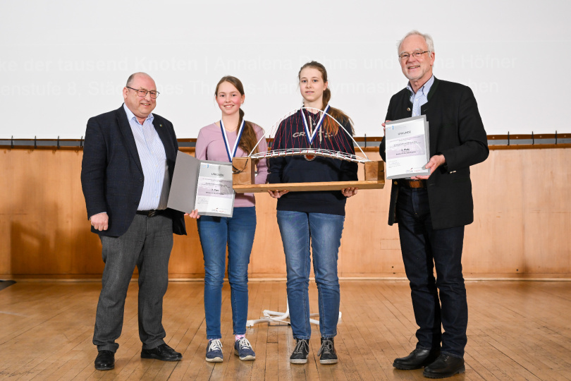
[[[313,115],[307,110],[299,110],[284,119],[274,138],[272,150],[285,148],[321,148],[355,154],[350,136],[338,129],[336,135],[326,132],[321,127],[321,134],[317,133],[312,145],[307,141],[302,114],[305,114],[309,123],[312,118],[315,126],[321,113]],[[326,116],[327,118],[328,116]],[[352,134],[348,120],[339,121],[345,131]],[[308,183],[325,181],[357,181],[357,163],[347,162],[329,157],[314,157],[307,161],[303,156],[275,157],[269,159],[268,183]],[[345,202],[347,198],[341,191],[313,191],[290,192],[278,198],[278,210],[293,212],[326,213],[345,215]]]

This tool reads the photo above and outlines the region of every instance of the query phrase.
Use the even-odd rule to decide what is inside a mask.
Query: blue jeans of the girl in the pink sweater
[[[202,216],[197,219],[204,254],[204,314],[207,339],[221,339],[222,284],[226,271],[232,303],[234,334],[246,333],[248,315],[248,264],[256,231],[256,208],[235,207],[233,217]]]

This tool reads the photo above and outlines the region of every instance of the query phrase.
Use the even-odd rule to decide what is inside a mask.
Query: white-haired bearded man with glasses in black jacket
[[[405,35],[398,59],[409,82],[391,97],[386,121],[426,115],[431,158],[429,176],[392,181],[388,224],[398,222],[419,326],[415,350],[396,358],[393,366],[424,367],[425,377],[450,377],[465,371],[468,306],[462,243],[464,226],[474,221],[469,167],[488,157],[488,140],[472,90],[432,74],[429,35],[416,30]],[[384,140],[379,151],[386,159]]]

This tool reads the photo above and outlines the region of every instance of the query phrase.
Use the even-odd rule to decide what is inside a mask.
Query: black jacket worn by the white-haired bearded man
[[[410,90],[403,89],[391,97],[386,120],[412,116]],[[446,164],[438,167],[426,180],[431,221],[434,229],[471,224],[474,201],[469,167],[488,157],[488,138],[478,111],[474,93],[460,83],[434,78],[428,102],[421,114],[429,122],[430,156],[444,155]],[[385,157],[385,141],[379,152]],[[395,205],[398,186],[392,181],[388,224],[398,222]]]

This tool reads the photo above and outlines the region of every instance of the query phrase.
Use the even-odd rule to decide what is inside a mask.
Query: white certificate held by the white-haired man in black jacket
[[[429,126],[426,116],[386,123],[386,178],[404,179],[430,174]]]

